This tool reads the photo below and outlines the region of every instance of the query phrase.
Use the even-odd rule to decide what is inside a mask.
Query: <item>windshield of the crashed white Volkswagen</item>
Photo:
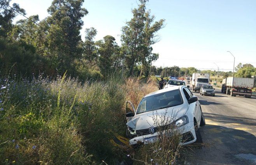
[[[163,109],[182,104],[181,93],[179,89],[144,97],[137,109],[137,114],[156,109]]]

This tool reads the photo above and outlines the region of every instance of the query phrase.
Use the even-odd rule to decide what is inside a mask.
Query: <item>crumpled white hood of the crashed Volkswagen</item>
[[[167,125],[181,118],[186,114],[188,105],[181,104],[175,107],[157,109],[135,115],[132,120],[126,123],[134,130],[149,129],[150,127],[159,127]]]

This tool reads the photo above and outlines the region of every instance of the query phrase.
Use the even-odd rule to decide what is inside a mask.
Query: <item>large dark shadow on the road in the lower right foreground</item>
[[[256,137],[243,130],[206,124],[200,128],[203,142],[202,149],[195,149],[191,162],[195,165],[217,164],[251,164],[247,160],[239,160],[239,153],[256,154]]]

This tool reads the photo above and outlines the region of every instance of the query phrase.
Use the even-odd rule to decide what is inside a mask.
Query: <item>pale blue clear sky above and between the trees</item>
[[[27,16],[44,19],[51,0],[12,0],[26,10]],[[121,27],[132,18],[137,0],[85,0],[89,14],[81,30],[94,27],[96,40],[112,35],[121,44]],[[156,66],[233,69],[239,62],[256,66],[256,0],[149,0],[147,9],[156,20],[165,19],[158,32],[160,42],[153,45],[160,58]],[[22,19],[21,16],[16,20]],[[214,64],[216,63],[216,64]]]

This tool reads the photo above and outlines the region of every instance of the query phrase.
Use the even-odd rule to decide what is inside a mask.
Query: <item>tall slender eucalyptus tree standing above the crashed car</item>
[[[132,76],[137,63],[142,64],[142,73],[152,59],[158,58],[156,54],[152,53],[151,45],[159,41],[156,32],[163,28],[165,20],[154,22],[155,17],[150,15],[150,10],[146,10],[146,2],[148,0],[140,0],[138,8],[132,10],[133,18],[126,22],[126,26],[123,26],[121,30],[126,67]]]

